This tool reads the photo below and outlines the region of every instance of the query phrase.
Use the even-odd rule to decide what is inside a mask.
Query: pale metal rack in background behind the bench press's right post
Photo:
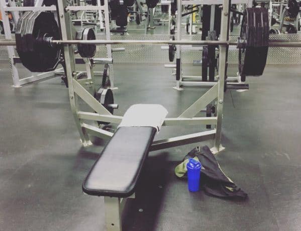
[[[210,31],[213,31],[214,28],[214,8],[215,5],[221,5],[222,1],[220,0],[181,0],[177,1],[177,9],[182,9],[182,6],[187,5],[211,5],[211,18],[213,19],[210,25]],[[233,0],[231,4],[246,4],[247,7],[252,6],[251,0]],[[182,15],[177,13],[176,16],[176,26],[177,26],[177,33],[175,35],[176,40],[181,40],[181,22],[182,22]],[[166,49],[166,47],[162,47],[162,49]],[[231,47],[229,47],[231,49]],[[233,48],[236,49],[236,48]],[[216,82],[202,82],[202,76],[185,76],[182,73],[182,60],[181,60],[181,52],[182,51],[188,51],[188,50],[199,50],[202,51],[202,46],[191,46],[191,45],[176,45],[176,64],[167,64],[165,65],[166,68],[175,68],[176,69],[176,86],[174,89],[176,90],[182,90],[182,86],[199,86],[199,87],[211,87],[215,85]],[[217,80],[216,76],[216,80]],[[240,76],[237,77],[228,77],[227,78],[230,81],[236,81],[238,84],[241,84]],[[194,81],[193,81],[194,80]],[[197,81],[195,81],[197,80]],[[231,83],[235,84],[235,83]]]

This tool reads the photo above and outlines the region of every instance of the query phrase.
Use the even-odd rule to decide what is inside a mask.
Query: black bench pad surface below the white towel
[[[89,195],[128,197],[135,191],[156,129],[120,127],[82,184]]]

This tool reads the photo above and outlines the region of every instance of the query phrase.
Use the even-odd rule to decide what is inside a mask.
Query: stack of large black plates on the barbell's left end
[[[31,72],[53,71],[60,59],[61,47],[49,40],[59,40],[60,32],[50,12],[26,12],[16,29],[16,47],[22,64]]]

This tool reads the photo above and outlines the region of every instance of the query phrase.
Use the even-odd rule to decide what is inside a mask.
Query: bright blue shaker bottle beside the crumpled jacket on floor
[[[188,175],[188,190],[190,192],[196,192],[199,190],[199,178],[200,169],[202,165],[195,159],[190,158],[187,163],[187,175]]]

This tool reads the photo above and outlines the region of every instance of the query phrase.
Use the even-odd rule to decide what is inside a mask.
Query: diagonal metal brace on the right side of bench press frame
[[[192,118],[200,110],[205,108],[213,100],[217,98],[218,95],[218,84],[215,84],[210,88],[204,95],[202,95],[198,100],[196,100],[190,107],[188,107],[179,118]]]

